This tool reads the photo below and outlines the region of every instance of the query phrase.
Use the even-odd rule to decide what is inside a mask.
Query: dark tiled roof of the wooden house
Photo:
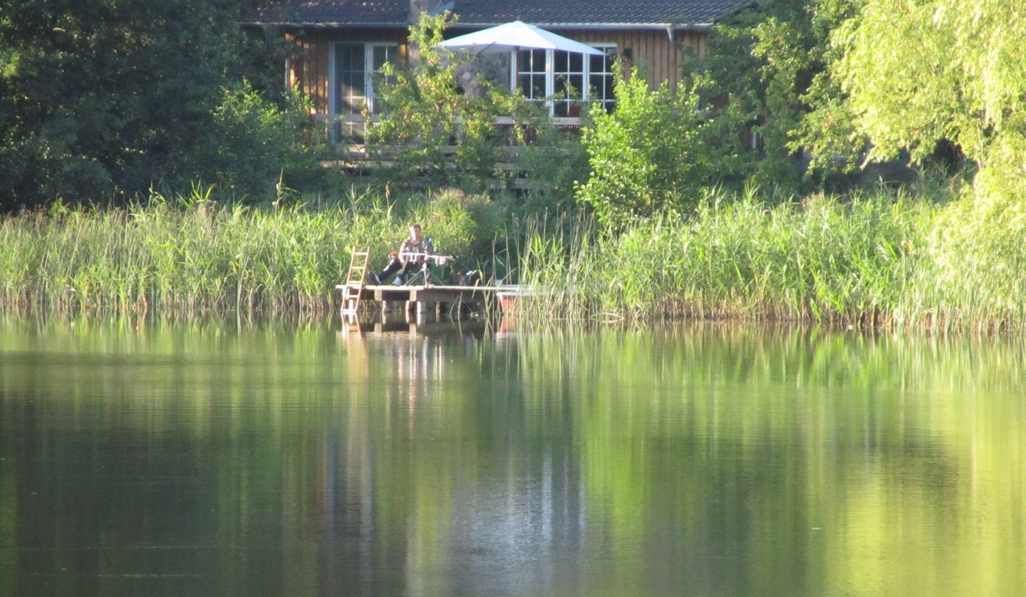
[[[523,21],[547,28],[706,27],[751,0],[455,0],[462,28]],[[283,0],[250,25],[407,27],[410,0]]]

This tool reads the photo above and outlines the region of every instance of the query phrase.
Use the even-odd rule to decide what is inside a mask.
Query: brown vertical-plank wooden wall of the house
[[[675,33],[676,45],[671,45],[666,30],[644,31],[559,31],[560,35],[584,43],[615,43],[620,54],[630,49],[630,65],[644,66],[655,89],[663,81],[673,88],[680,80],[680,67],[687,53],[703,55],[706,51],[705,32]],[[329,113],[328,106],[328,52],[339,41],[378,41],[399,44],[399,55],[409,54],[406,31],[395,29],[359,30],[307,30],[292,33],[287,39],[293,44],[288,61],[286,83],[299,85],[314,102],[316,115]]]

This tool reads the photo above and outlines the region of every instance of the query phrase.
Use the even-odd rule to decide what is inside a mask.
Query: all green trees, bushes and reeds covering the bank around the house
[[[483,72],[465,92],[470,56],[437,45],[459,16],[425,15],[419,59],[374,83],[362,193],[323,165],[355,140],[279,92],[282,32],[238,29],[249,4],[73,4],[0,18],[0,309],[323,313],[354,246],[381,267],[419,222],[452,270],[544,296],[519,302],[530,322],[1026,328],[1026,21],[1008,2],[758,3],[675,86],[614,56],[610,112]],[[580,102],[579,129],[556,99]]]

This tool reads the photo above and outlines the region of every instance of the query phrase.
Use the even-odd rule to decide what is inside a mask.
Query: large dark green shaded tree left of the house
[[[0,0],[0,209],[97,201],[209,162],[244,0]]]

